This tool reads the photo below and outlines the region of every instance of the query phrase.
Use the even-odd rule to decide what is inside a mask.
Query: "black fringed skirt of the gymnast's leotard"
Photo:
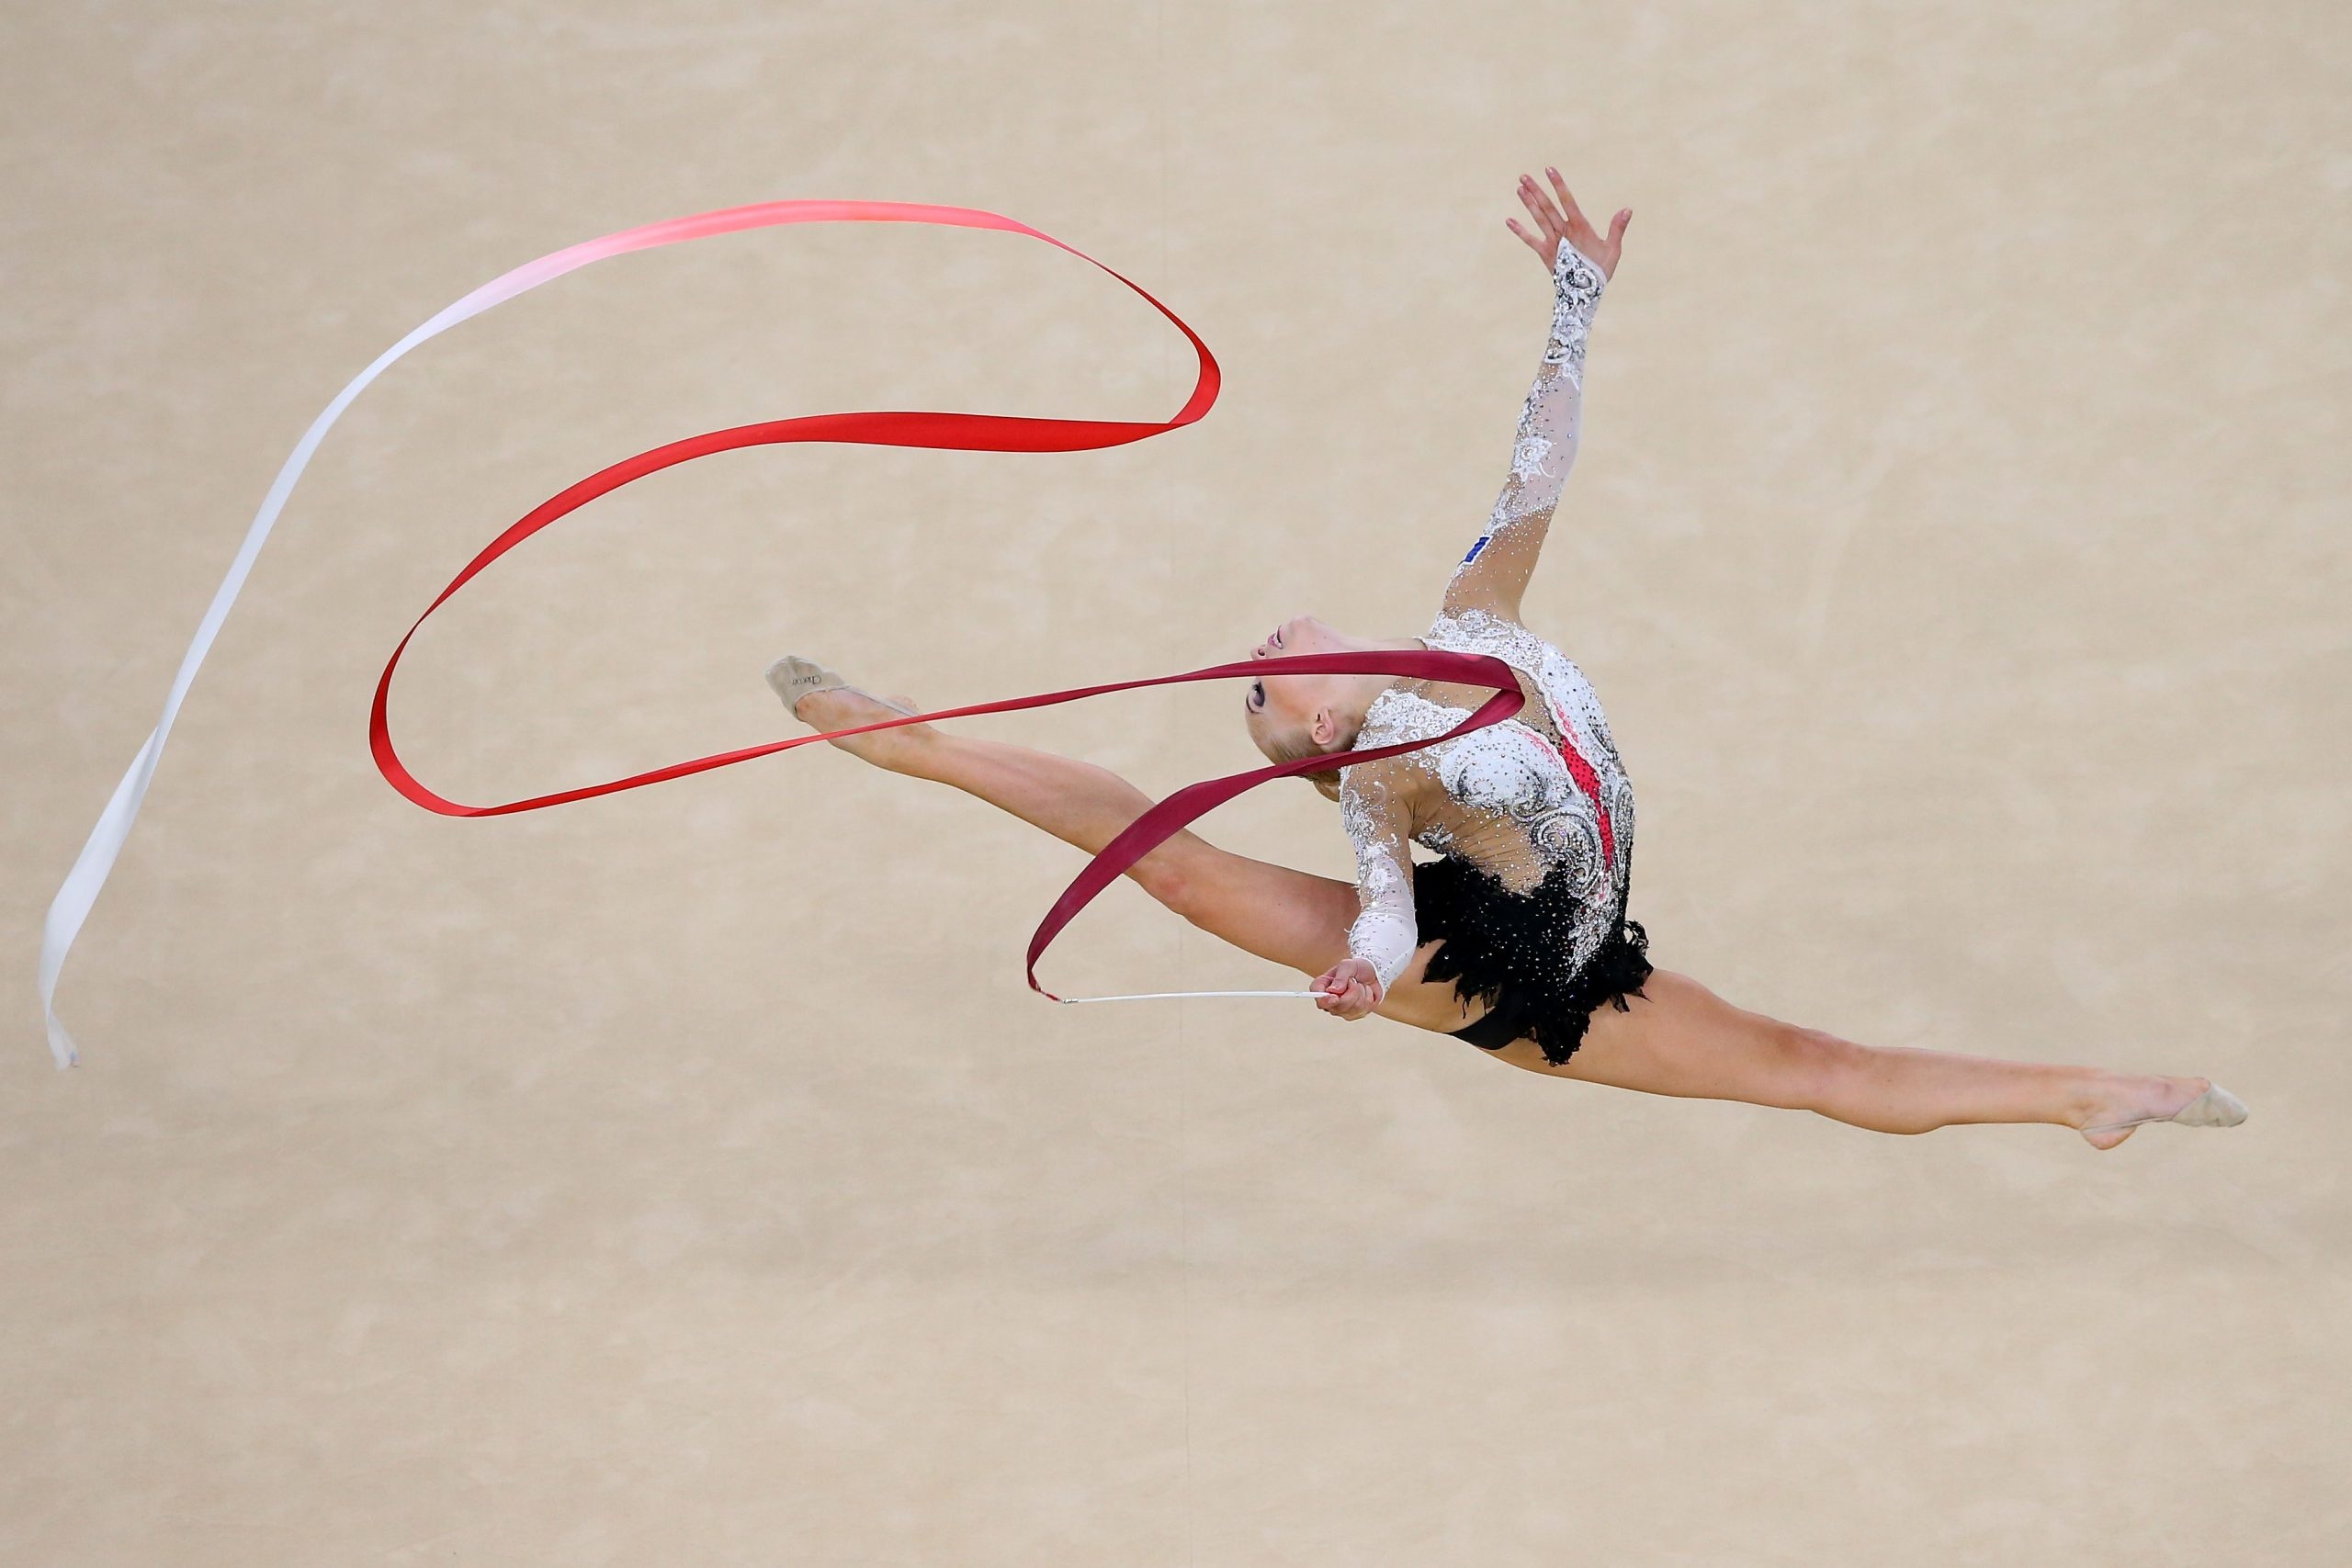
[[[1592,1009],[1604,1001],[1632,1011],[1628,994],[1642,997],[1649,980],[1649,933],[1625,919],[1621,889],[1609,910],[1609,936],[1583,969],[1569,969],[1578,926],[1595,919],[1590,905],[1569,891],[1564,865],[1526,893],[1512,893],[1494,872],[1461,856],[1414,865],[1414,912],[1421,940],[1444,938],[1423,971],[1430,980],[1454,980],[1454,994],[1486,1001],[1486,1016],[1458,1034],[1486,1051],[1515,1039],[1534,1039],[1543,1060],[1559,1065],[1576,1056]]]

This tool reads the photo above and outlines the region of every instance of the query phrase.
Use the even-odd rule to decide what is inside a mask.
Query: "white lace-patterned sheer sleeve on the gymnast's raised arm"
[[[1552,256],[1552,331],[1543,343],[1536,383],[1519,409],[1519,433],[1510,449],[1510,477],[1496,496],[1486,531],[1454,569],[1446,609],[1517,607],[1536,571],[1552,508],[1576,465],[1583,430],[1585,334],[1609,287],[1599,263],[1566,240]]]

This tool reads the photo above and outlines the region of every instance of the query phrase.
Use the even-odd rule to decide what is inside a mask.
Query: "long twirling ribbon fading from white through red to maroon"
[[[564,517],[588,501],[614,491],[630,480],[640,480],[661,468],[684,463],[689,458],[710,456],[713,451],[731,451],[736,447],[764,447],[783,442],[856,442],[875,447],[941,447],[957,451],[1089,451],[1098,447],[1120,447],[1127,442],[1141,442],[1152,435],[1164,435],[1178,425],[1188,425],[1202,418],[1216,402],[1218,374],[1216,360],[1209,355],[1209,346],[1200,341],[1174,310],[1162,306],[1143,287],[1138,287],[1127,275],[1103,266],[1094,256],[1063,244],[1049,233],[1030,228],[1016,219],[1007,219],[995,212],[983,212],[976,207],[934,207],[922,202],[830,202],[830,200],[793,200],[793,202],[755,202],[750,207],[724,207],[717,212],[699,212],[684,219],[670,219],[663,223],[644,223],[640,228],[623,228],[597,240],[583,240],[567,249],[529,261],[510,273],[494,277],[473,294],[466,294],[454,306],[440,310],[416,331],[407,334],[388,350],[383,350],[367,369],[362,369],[350,386],[334,395],[334,400],[320,411],[310,428],[303,433],[301,442],[287,456],[285,465],[278,470],[278,480],[270,484],[268,496],[261,501],[261,510],[245,531],[245,543],[238,548],[235,559],[228,567],[228,576],[212,595],[212,604],[205,618],[198,623],[195,639],[181,656],[179,675],[172,679],[172,689],[165,696],[162,717],[148,733],[139,755],[132,757],[129,769],[122,780],[115,783],[113,797],[99,813],[96,825],[89,830],[89,839],[82,844],[82,853],[75,856],[73,870],[59,886],[56,898],[49,900],[49,914],[42,924],[40,940],[40,1006],[49,1032],[49,1053],[56,1058],[59,1067],[71,1067],[80,1060],[73,1037],[66,1032],[64,1020],[59,1020],[54,1009],[56,978],[64,971],[66,952],[73,947],[73,938],[80,933],[82,924],[89,919],[89,910],[99,898],[99,889],[106,884],[115,858],[122,853],[122,844],[129,837],[132,823],[139,816],[139,806],[146,799],[148,785],[155,776],[155,762],[162,757],[165,738],[172,733],[172,722],[179,717],[181,701],[188,696],[188,686],[195,679],[198,665],[205,663],[205,654],[212,651],[212,642],[228,618],[230,604],[235,604],[238,592],[245,588],[245,578],[252,574],[254,557],[268,541],[278,515],[285,510],[287,496],[294,482],[301,480],[303,470],[310,465],[310,456],[318,451],[327,430],[343,409],[367,390],[367,386],[381,376],[395,360],[407,355],[419,343],[440,336],[459,322],[482,315],[492,306],[506,303],[517,294],[536,289],[543,282],[562,277],[590,261],[602,261],[607,256],[619,256],[637,249],[654,249],[661,244],[677,244],[682,240],[703,240],[708,235],[724,235],[746,228],[771,228],[781,223],[941,223],[955,228],[1000,228],[1009,233],[1030,235],[1044,240],[1073,256],[1110,273],[1129,289],[1141,294],[1160,315],[1169,317],[1185,339],[1192,341],[1200,355],[1200,376],[1192,386],[1192,395],[1178,409],[1176,418],[1164,423],[1150,421],[1080,421],[1080,418],[1014,418],[995,414],[936,414],[936,411],[861,411],[861,414],[811,414],[802,418],[779,418],[755,425],[734,425],[729,430],[713,430],[706,435],[691,435],[666,447],[654,447],[652,451],[640,451],[637,456],[614,463],[569,489],[550,496],[532,512],[527,512],[510,529],[499,534],[480,555],[475,555],[456,578],[426,607],[421,616],[409,625],[407,635],[393,649],[393,656],[383,665],[383,677],[376,682],[376,698],[367,717],[367,743],[376,759],[376,769],[386,780],[405,797],[416,802],[428,811],[442,816],[506,816],[510,811],[536,811],[543,806],[560,806],[574,799],[588,799],[593,795],[612,795],[616,790],[635,790],[642,785],[661,783],[666,778],[682,778],[687,773],[701,773],[706,769],[727,766],[734,762],[750,762],[753,757],[764,757],[769,752],[793,750],[795,745],[814,745],[818,741],[837,741],[842,736],[856,736],[875,729],[894,729],[898,724],[924,724],[934,719],[955,719],[983,712],[1014,712],[1018,708],[1047,708],[1054,703],[1070,703],[1087,696],[1101,696],[1108,691],[1134,691],[1138,686],[1164,686],[1174,682],[1195,679],[1225,679],[1242,675],[1265,675],[1270,668],[1282,668],[1296,675],[1327,675],[1327,672],[1357,672],[1357,675],[1404,675],[1416,679],[1444,679],[1470,686],[1489,686],[1494,696],[1486,698],[1461,724],[1449,729],[1444,736],[1432,736],[1430,741],[1406,741],[1397,745],[1383,745],[1371,750],[1350,752],[1350,764],[1371,762],[1378,757],[1392,757],[1399,752],[1421,750],[1454,736],[1484,729],[1489,724],[1501,724],[1526,701],[1519,691],[1517,677],[1510,665],[1486,654],[1442,654],[1442,651],[1376,651],[1376,654],[1310,654],[1294,658],[1268,658],[1268,661],[1242,661],[1230,665],[1211,665],[1204,670],[1190,670],[1185,675],[1162,675],[1150,679],[1110,682],[1101,686],[1077,686],[1070,691],[1049,691],[1042,696],[1014,698],[1004,703],[976,703],[969,708],[948,708],[938,712],[920,712],[882,719],[877,724],[858,724],[854,729],[837,729],[826,733],[793,736],[788,741],[776,741],[769,745],[753,745],[734,752],[717,752],[710,757],[696,757],[691,762],[677,762],[666,769],[654,769],[649,773],[633,773],[628,778],[614,778],[600,785],[586,785],[579,790],[560,790],[555,795],[536,795],[529,799],[503,802],[496,806],[466,806],[445,799],[421,785],[414,773],[400,762],[393,750],[393,736],[386,719],[386,698],[393,684],[393,670],[400,665],[400,654],[409,646],[416,628],[423,625],[426,616],[442,607],[459,588],[463,588],[477,571],[489,562],[499,559],[517,543],[548,527],[557,517]],[[1221,806],[1223,802],[1242,795],[1244,790],[1265,783],[1268,778],[1284,778],[1289,773],[1305,773],[1334,766],[1331,757],[1301,757],[1296,762],[1284,762],[1265,769],[1254,769],[1249,773],[1232,773],[1228,778],[1209,778],[1188,785],[1171,795],[1169,799],[1150,806],[1143,816],[1127,825],[1110,844],[1103,846],[1094,860],[1070,882],[1063,896],[1047,912],[1037,933],[1030,938],[1028,947],[1028,983],[1030,990],[1054,999],[1054,1001],[1108,1001],[1110,997],[1054,997],[1054,992],[1037,985],[1037,959],[1054,940],[1054,936],[1070,924],[1073,917],[1087,903],[1101,893],[1110,882],[1127,872],[1136,860],[1148,856],[1152,849],[1164,844],[1169,837],[1181,832],[1188,823],[1200,818],[1204,811]],[[1162,992],[1162,994],[1211,994],[1211,992]]]

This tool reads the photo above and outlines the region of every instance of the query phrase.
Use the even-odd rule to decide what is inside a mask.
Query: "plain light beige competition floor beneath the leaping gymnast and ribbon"
[[[2333,5],[61,5],[0,47],[0,1561],[2338,1563],[2352,1509],[2352,26]],[[1084,456],[764,449],[412,646],[513,799],[1421,630],[1557,162],[1635,209],[1529,602],[1632,912],[1875,1044],[2201,1072],[2232,1133],[1853,1131],[1308,1004],[1054,1009],[1080,856],[830,750],[492,820],[390,646],[663,440],[1167,418],[1018,235],[609,261],[327,440],[66,969],[40,917],[278,463],[477,282],[776,197],[1101,256],[1225,395]],[[1155,795],[1237,689],[976,722]],[[1348,872],[1277,785],[1207,837]],[[1282,985],[1122,884],[1061,990]]]

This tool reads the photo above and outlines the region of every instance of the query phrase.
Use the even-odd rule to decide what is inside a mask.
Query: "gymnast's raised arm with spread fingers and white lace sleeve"
[[[1552,336],[1543,346],[1543,362],[1536,367],[1536,386],[1526,393],[1519,411],[1519,435],[1510,449],[1510,477],[1494,503],[1486,531],[1470,545],[1470,555],[1454,569],[1446,583],[1444,611],[1458,616],[1482,609],[1505,621],[1519,618],[1519,595],[1543,555],[1543,536],[1552,529],[1552,508],[1576,465],[1576,437],[1583,416],[1585,383],[1585,329],[1599,306],[1602,289],[1616,273],[1623,249],[1625,223],[1632,209],[1623,209],[1609,223],[1602,240],[1576,209],[1559,169],[1550,169],[1559,205],[1519,176],[1519,200],[1536,216],[1541,235],[1529,235],[1515,221],[1508,228],[1519,235],[1552,270]],[[1564,209],[1564,212],[1562,212]]]

